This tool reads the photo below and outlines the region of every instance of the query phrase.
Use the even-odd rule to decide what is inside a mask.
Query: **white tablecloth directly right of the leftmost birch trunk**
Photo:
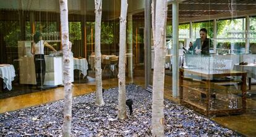
[[[87,75],[88,70],[88,62],[87,59],[77,59],[74,58],[74,70],[81,70],[81,73],[83,74],[83,78]]]

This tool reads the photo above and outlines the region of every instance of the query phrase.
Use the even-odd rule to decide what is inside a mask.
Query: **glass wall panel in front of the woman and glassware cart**
[[[189,40],[184,43],[184,47],[189,46],[187,51],[179,52],[184,53],[183,67],[179,67],[182,104],[205,115],[241,114],[245,110],[245,93],[254,81],[247,70],[255,58],[254,38],[251,38],[255,17],[247,16],[251,13],[249,9],[253,9],[250,4],[254,2],[179,4],[179,37],[182,38],[185,24],[188,28],[184,37]],[[248,86],[245,73],[249,77]]]

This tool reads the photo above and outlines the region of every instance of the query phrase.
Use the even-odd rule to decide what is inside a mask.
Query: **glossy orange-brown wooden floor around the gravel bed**
[[[133,80],[127,78],[126,83],[135,83],[144,87],[145,77],[139,76],[134,77]],[[113,88],[117,86],[117,78],[109,78],[103,80],[103,88]],[[172,77],[165,75],[164,84],[164,98],[179,103],[179,99],[172,97],[171,92]],[[252,87],[253,89],[256,86]],[[88,83],[75,83],[73,96],[80,96],[83,94],[92,93],[95,91],[95,81],[88,77]],[[58,87],[54,89],[48,89],[37,93],[24,94],[15,96],[12,98],[0,99],[0,114],[4,112],[10,112],[13,110],[23,109],[31,106],[38,106],[48,102],[58,101],[64,98],[64,87]],[[242,115],[233,115],[227,117],[211,117],[217,123],[224,125],[225,127],[231,128],[239,133],[246,136],[256,135],[256,101],[247,99],[247,112]]]

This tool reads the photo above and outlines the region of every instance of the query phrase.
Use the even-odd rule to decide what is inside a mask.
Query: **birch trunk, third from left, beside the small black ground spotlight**
[[[121,0],[120,36],[119,36],[119,65],[118,65],[118,114],[119,119],[127,118],[126,115],[126,16],[127,0]]]

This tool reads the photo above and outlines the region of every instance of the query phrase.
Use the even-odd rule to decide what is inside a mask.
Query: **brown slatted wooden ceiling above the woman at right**
[[[256,14],[256,0],[184,0],[179,3],[179,20],[210,19],[213,15],[236,17],[239,12],[250,11]],[[172,19],[172,4],[168,5],[168,20]],[[255,12],[254,12],[255,10]],[[144,12],[134,15],[134,19],[142,19]]]

